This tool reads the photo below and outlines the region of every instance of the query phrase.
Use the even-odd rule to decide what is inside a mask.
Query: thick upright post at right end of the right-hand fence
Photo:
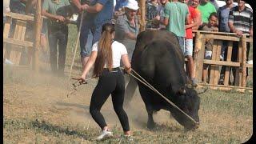
[[[242,86],[246,87],[246,35],[242,35]]]

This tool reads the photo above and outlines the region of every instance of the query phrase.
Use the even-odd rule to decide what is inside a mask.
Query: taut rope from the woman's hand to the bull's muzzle
[[[123,69],[123,68],[122,68],[122,69]],[[142,76],[140,76],[135,70],[133,70],[133,69],[131,69],[131,70],[132,70],[132,72],[134,72],[135,74],[137,74],[139,78],[142,78]],[[146,82],[146,80],[145,80],[144,78],[142,78],[142,80],[141,80],[141,79],[139,79],[138,77],[136,77],[134,74],[131,74],[131,73],[130,73],[130,75],[133,76],[134,78],[136,78],[139,82],[142,82],[142,80],[143,80],[144,82],[142,82],[142,84],[144,84],[145,86],[149,87],[151,90],[153,90],[154,92],[156,92],[157,94],[159,94],[162,98],[164,98],[167,102],[169,102],[171,106],[174,106],[175,108],[177,108],[180,112],[182,112],[182,114],[185,114],[187,118],[190,118],[190,120],[191,120],[192,122],[194,122],[195,124],[198,123],[198,122],[196,122],[193,118],[191,118],[190,115],[186,114],[183,110],[181,110],[178,106],[176,106],[176,105],[174,104],[174,102],[171,102],[168,98],[166,98],[165,96],[163,96],[158,90],[156,90],[156,89],[154,88],[154,86],[151,86],[149,82]]]

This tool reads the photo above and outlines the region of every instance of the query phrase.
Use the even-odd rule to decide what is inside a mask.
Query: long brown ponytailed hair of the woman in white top
[[[112,70],[112,34],[114,33],[114,24],[105,23],[102,26],[102,36],[98,41],[98,54],[94,64],[94,76],[100,76],[103,68],[106,67]]]

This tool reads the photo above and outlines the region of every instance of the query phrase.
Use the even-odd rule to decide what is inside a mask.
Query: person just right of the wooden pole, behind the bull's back
[[[160,14],[158,0],[151,0],[146,3],[146,29],[158,29],[159,22],[154,18]]]

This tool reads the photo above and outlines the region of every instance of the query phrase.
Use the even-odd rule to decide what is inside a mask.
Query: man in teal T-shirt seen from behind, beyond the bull
[[[164,25],[166,29],[178,37],[179,45],[185,52],[185,21],[189,22],[189,10],[186,4],[173,0],[167,3],[164,10]]]

